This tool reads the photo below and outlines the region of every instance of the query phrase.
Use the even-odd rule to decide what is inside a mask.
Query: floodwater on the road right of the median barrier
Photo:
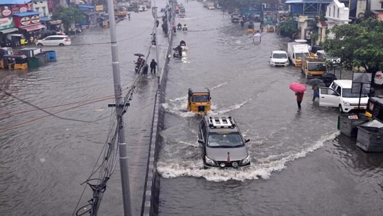
[[[219,10],[183,3],[187,52],[170,62],[165,129],[157,169],[160,215],[381,215],[383,155],[365,153],[337,130],[337,109],[313,104],[308,88],[297,111],[292,82],[300,69],[270,67],[286,40],[261,42]],[[252,165],[204,170],[197,142],[201,117],[186,111],[187,89],[208,87],[213,110],[230,115],[250,138]]]

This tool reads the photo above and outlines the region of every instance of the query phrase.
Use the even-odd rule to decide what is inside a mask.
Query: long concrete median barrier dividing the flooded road
[[[174,10],[175,7],[172,7]],[[165,89],[167,82],[167,74],[169,73],[169,56],[172,56],[172,41],[173,41],[173,32],[171,25],[174,25],[175,11],[172,11],[173,19],[170,22],[169,27],[169,40],[167,52],[164,60],[164,65],[161,68],[161,75],[158,81],[158,87],[156,90],[156,97],[153,110],[152,118],[152,128],[151,128],[151,138],[149,145],[149,156],[148,156],[148,166],[146,172],[145,186],[143,189],[143,199],[142,199],[142,216],[155,216],[158,215],[158,205],[159,205],[159,174],[156,169],[156,163],[158,154],[160,151],[161,137],[159,132],[164,127],[164,115],[165,110],[162,108],[161,104],[165,102]]]

